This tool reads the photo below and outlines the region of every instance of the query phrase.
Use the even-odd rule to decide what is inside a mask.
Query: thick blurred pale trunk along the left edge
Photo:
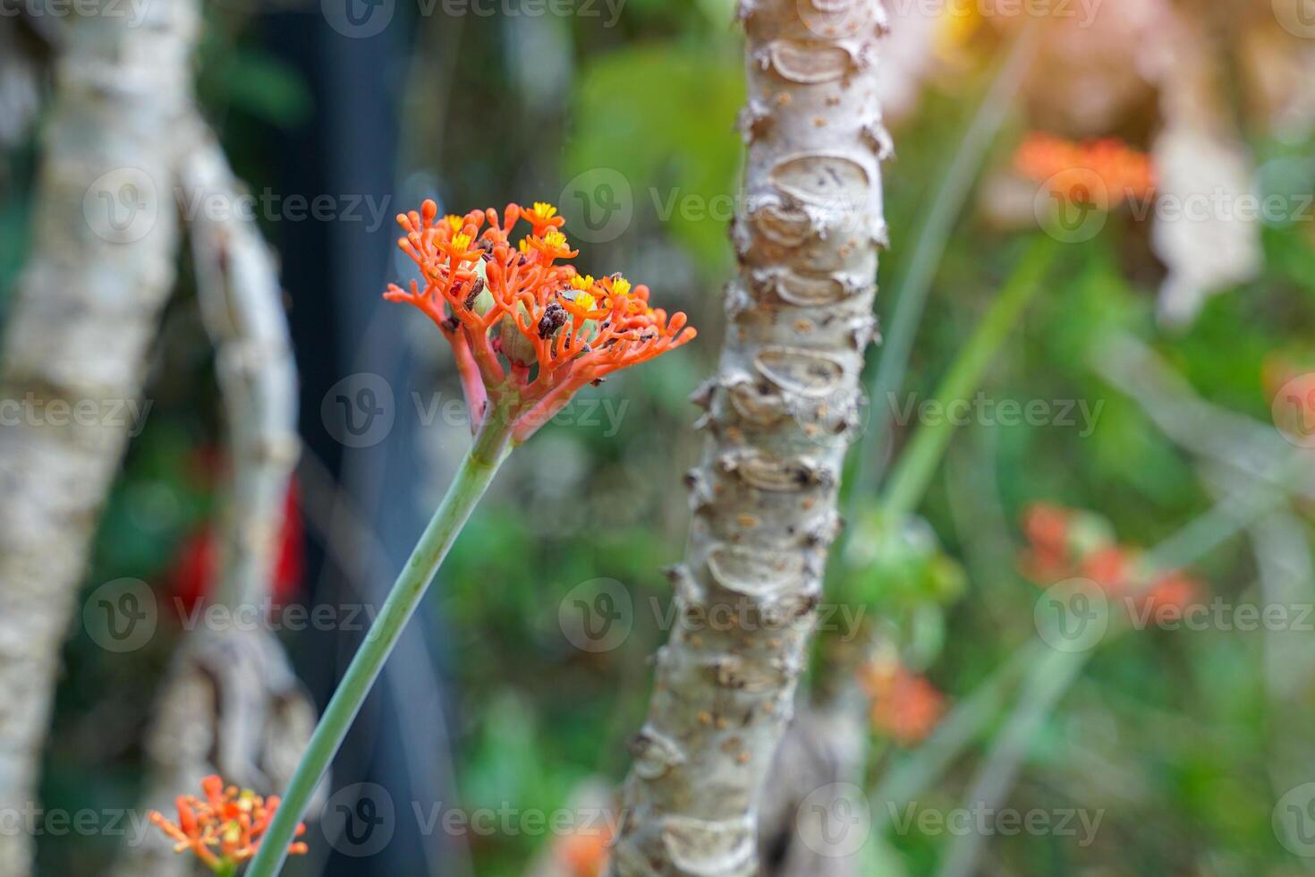
[[[112,7],[62,29],[0,362],[0,809],[20,813],[36,806],[60,644],[174,285],[170,174],[197,22],[189,4]],[[0,832],[0,874],[30,873],[30,855],[25,834]]]

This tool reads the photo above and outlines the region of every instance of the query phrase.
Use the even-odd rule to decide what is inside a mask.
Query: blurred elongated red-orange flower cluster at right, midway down
[[[1130,606],[1147,617],[1166,621],[1197,602],[1201,585],[1178,571],[1140,581],[1137,548],[1116,544],[1094,527],[1084,527],[1088,513],[1038,502],[1023,513],[1028,547],[1019,568],[1044,586],[1081,576],[1094,581],[1111,598],[1131,598]],[[1082,533],[1086,530],[1086,533]]]

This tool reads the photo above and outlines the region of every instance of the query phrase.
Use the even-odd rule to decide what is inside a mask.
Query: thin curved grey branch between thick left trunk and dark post
[[[175,3],[193,0],[174,0]],[[222,572],[214,601],[260,618],[271,596],[276,538],[297,459],[297,380],[279,271],[254,220],[235,209],[243,192],[213,133],[197,116],[178,188],[196,266],[201,314],[216,346],[227,422],[229,496],[220,531]],[[220,204],[222,210],[205,205]],[[147,739],[147,806],[170,811],[201,777],[259,790],[287,785],[314,728],[316,711],[272,630],[199,628],[183,642],[156,702]],[[159,834],[129,847],[121,877],[181,877],[191,863]]]

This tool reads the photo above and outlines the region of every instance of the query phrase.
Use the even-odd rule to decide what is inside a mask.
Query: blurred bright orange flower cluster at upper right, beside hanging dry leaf
[[[1102,209],[1145,200],[1156,188],[1151,156],[1116,138],[1076,143],[1034,133],[1014,153],[1014,168],[1066,201]],[[1093,184],[1105,191],[1094,191]]]

